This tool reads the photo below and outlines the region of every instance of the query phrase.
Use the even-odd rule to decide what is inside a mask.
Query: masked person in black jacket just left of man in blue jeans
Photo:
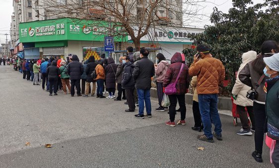
[[[126,99],[128,102],[129,109],[125,110],[126,112],[134,112],[135,111],[135,95],[134,95],[134,89],[135,89],[135,82],[132,77],[135,65],[130,62],[130,57],[125,56],[122,60],[124,70],[123,70],[123,76],[122,76],[122,88],[125,89],[126,93]]]

